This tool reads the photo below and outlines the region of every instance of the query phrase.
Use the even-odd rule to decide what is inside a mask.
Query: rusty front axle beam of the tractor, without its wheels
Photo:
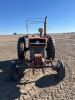
[[[45,72],[45,68],[52,68],[57,71],[57,60],[45,60],[42,64],[36,64],[34,61],[20,61],[16,62],[17,68],[32,69],[34,75],[35,69],[42,69],[42,72]]]

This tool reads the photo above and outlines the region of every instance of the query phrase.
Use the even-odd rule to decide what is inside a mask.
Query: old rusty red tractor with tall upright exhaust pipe
[[[57,71],[58,78],[65,77],[65,67],[61,60],[55,59],[55,45],[53,38],[46,32],[47,16],[44,18],[43,28],[39,28],[39,34],[24,35],[18,39],[17,55],[18,60],[12,61],[11,79],[18,80],[22,74],[21,69],[32,68],[33,75],[35,69],[52,68]],[[26,54],[28,53],[28,57]]]

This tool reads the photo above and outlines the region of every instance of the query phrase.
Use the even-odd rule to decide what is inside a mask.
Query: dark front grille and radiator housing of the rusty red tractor
[[[29,39],[30,59],[34,60],[34,55],[38,53],[41,53],[42,57],[44,57],[45,46],[46,40],[44,38]]]

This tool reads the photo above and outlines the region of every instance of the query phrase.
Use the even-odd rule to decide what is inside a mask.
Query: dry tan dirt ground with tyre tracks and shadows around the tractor
[[[75,100],[75,34],[53,35],[56,58],[65,64],[65,78],[55,79],[55,72],[46,69],[25,71],[17,82],[10,79],[10,61],[17,59],[19,36],[0,36],[0,100]]]

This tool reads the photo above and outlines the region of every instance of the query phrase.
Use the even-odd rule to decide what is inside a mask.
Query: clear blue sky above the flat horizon
[[[27,18],[47,16],[47,32],[75,31],[75,0],[0,0],[0,34],[26,33]],[[43,24],[29,25],[29,33]]]

